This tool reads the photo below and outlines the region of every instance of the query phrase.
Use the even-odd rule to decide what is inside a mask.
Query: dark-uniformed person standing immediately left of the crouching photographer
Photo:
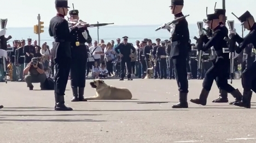
[[[17,49],[17,63],[18,63],[18,68],[19,68],[19,80],[18,82],[22,82],[24,77],[23,77],[23,70],[24,70],[24,63],[25,63],[25,55],[23,53],[24,51],[24,45],[25,45],[25,40],[21,40],[21,47]]]

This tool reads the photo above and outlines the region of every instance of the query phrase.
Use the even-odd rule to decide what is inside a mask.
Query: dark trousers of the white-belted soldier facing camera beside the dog
[[[85,45],[71,47],[71,88],[84,88],[88,54]]]

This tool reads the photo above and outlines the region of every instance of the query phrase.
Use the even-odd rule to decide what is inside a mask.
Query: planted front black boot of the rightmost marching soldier
[[[251,98],[252,98],[252,91],[245,91],[243,90],[243,97],[242,101],[235,102],[233,105],[239,106],[239,107],[245,107],[245,108],[251,108]]]

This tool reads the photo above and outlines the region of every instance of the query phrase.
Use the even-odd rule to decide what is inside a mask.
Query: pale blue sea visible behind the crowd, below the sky
[[[90,35],[92,40],[97,40],[98,38],[103,39],[105,42],[110,42],[111,40],[116,41],[117,38],[122,38],[123,36],[129,37],[129,42],[135,43],[136,40],[143,40],[144,38],[152,39],[155,41],[156,38],[160,38],[161,40],[169,39],[170,34],[167,30],[161,29],[158,32],[155,32],[155,29],[159,27],[159,25],[144,25],[144,26],[104,26],[98,29],[97,28],[89,28]],[[236,31],[241,35],[242,28],[239,23],[235,24]],[[189,24],[189,33],[190,39],[192,43],[195,42],[193,39],[194,36],[197,36],[197,25]],[[246,31],[244,35],[248,32]],[[33,33],[33,27],[27,28],[8,28],[6,36],[11,35],[13,40],[21,40],[31,38],[32,40],[38,40],[38,35]],[[49,36],[48,27],[44,28],[44,33],[40,34],[40,46],[42,46],[43,42],[47,42],[51,47],[51,43],[54,41],[52,37]]]

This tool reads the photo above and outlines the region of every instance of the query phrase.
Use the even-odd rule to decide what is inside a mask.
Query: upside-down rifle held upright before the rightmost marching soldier
[[[229,29],[234,30],[235,27],[235,21],[228,21],[228,26]],[[230,38],[225,37],[224,40],[228,42],[229,46],[229,52],[234,53],[235,52],[235,46],[236,46],[236,41],[235,41],[235,34],[230,34]],[[232,54],[230,54],[230,79],[231,79],[231,84],[232,84],[232,78],[234,77],[234,59],[232,57]]]

